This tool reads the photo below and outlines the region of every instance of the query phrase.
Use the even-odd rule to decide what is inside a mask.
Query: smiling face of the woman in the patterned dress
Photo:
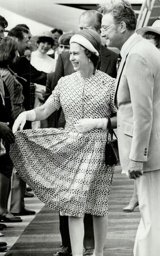
[[[86,71],[87,66],[89,65],[89,58],[82,50],[81,46],[77,43],[70,44],[70,58],[75,71]]]

